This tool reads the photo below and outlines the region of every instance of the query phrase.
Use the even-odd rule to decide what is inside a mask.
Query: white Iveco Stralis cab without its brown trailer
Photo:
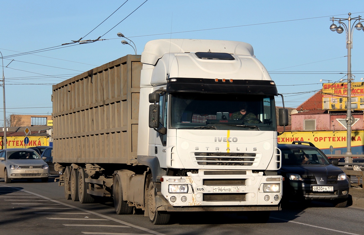
[[[157,210],[278,210],[278,93],[252,46],[154,40],[141,61],[138,161],[150,167]]]

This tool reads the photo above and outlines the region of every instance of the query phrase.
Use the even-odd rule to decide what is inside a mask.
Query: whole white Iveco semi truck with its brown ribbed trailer
[[[279,95],[250,44],[149,41],[53,86],[59,184],[67,199],[112,197],[116,213],[139,209],[153,224],[179,211],[264,222],[282,198]]]

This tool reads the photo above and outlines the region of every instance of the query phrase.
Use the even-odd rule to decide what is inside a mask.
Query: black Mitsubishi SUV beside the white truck
[[[310,142],[294,141],[292,144],[278,144],[282,153],[282,203],[289,200],[330,200],[335,207],[345,207],[349,195],[349,179]],[[334,165],[335,164],[335,165]]]

